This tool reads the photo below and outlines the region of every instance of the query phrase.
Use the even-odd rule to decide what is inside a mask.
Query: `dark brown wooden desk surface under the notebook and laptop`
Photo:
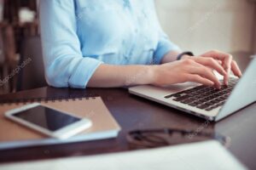
[[[61,156],[94,155],[129,150],[125,134],[137,128],[176,127],[184,129],[203,128],[230,136],[229,150],[247,167],[256,169],[256,104],[237,111],[221,122],[212,122],[207,127],[204,120],[184,114],[164,105],[160,105],[128,94],[124,88],[88,88],[86,90],[70,88],[38,88],[16,94],[5,94],[0,99],[20,99],[30,97],[56,97],[61,94],[98,94],[108,106],[122,127],[117,139],[38,146],[16,150],[0,151],[0,161],[25,161]],[[8,129],[6,129],[8,131]],[[1,135],[1,134],[0,134]]]

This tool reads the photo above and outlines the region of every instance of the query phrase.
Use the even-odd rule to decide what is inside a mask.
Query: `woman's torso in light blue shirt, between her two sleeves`
[[[84,57],[113,65],[152,64],[159,41],[153,0],[76,0]]]

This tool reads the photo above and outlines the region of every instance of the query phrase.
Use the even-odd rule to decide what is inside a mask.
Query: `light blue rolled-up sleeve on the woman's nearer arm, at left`
[[[102,61],[84,57],[76,33],[73,0],[40,1],[45,77],[58,88],[85,88]]]

